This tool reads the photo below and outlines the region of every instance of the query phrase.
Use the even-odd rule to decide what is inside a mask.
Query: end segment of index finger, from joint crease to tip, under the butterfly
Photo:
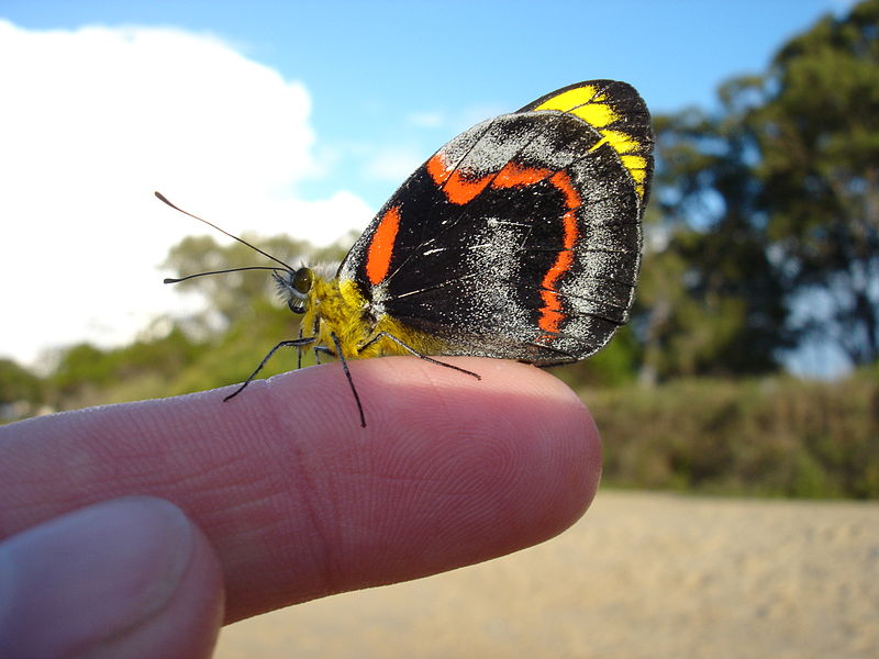
[[[333,365],[309,373],[307,392],[294,376],[270,381],[275,416],[296,420],[286,428],[297,438],[300,467],[313,488],[330,492],[319,507],[345,511],[344,537],[333,524],[319,535],[329,546],[374,549],[331,558],[337,589],[412,579],[534,545],[574,524],[594,496],[599,436],[567,386],[527,365],[449,361],[481,380],[413,358],[351,364],[365,429]],[[293,396],[309,432],[285,407]],[[331,482],[315,484],[323,479]]]

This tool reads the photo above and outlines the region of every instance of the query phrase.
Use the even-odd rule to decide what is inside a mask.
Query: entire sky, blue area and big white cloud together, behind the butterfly
[[[0,0],[0,357],[121,345],[203,304],[160,264],[207,231],[154,190],[326,245],[478,121],[593,78],[654,113],[710,109],[850,4]]]

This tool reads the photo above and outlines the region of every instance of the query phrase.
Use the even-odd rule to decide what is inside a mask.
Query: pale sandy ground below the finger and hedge
[[[602,490],[538,547],[223,630],[254,657],[879,658],[879,503]]]

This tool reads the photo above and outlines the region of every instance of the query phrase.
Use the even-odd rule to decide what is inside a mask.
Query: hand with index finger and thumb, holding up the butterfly
[[[219,626],[545,540],[598,433],[553,376],[338,364],[0,427],[0,656],[207,657]]]

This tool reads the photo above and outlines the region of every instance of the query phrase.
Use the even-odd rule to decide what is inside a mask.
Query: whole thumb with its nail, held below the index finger
[[[0,544],[0,656],[209,657],[219,562],[173,504],[132,496]]]

